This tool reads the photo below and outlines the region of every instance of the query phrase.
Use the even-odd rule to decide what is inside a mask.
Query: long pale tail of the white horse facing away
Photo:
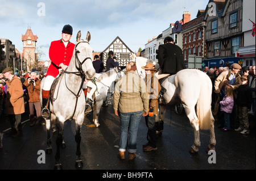
[[[212,115],[212,81],[206,74],[200,75],[201,89],[199,99],[197,100],[196,113],[199,119],[200,129],[210,129],[214,117]]]

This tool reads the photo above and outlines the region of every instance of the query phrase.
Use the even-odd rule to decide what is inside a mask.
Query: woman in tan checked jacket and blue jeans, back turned
[[[146,83],[135,72],[136,69],[135,62],[127,64],[125,76],[118,79],[113,96],[115,115],[120,117],[121,123],[118,153],[120,159],[125,159],[126,150],[129,152],[129,160],[136,157],[139,122],[148,113]]]

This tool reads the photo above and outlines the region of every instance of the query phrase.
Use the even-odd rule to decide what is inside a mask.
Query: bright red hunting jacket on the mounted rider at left
[[[74,48],[75,44],[70,41],[68,42],[67,47],[65,47],[62,39],[52,41],[49,48],[49,58],[52,62],[48,68],[46,76],[51,75],[52,77],[57,77],[59,74],[60,64],[63,63],[64,65],[69,65]]]

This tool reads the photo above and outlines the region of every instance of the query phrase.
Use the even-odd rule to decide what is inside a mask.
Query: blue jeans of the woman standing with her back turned
[[[119,112],[121,122],[119,151],[129,151],[129,153],[136,152],[137,132],[139,121],[142,118],[142,111],[137,112]],[[128,139],[129,133],[129,139]]]

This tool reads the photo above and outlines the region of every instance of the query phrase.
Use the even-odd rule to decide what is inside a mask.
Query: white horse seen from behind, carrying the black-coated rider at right
[[[133,61],[136,62],[137,72],[143,76],[141,66],[145,66],[150,61],[135,56],[133,56]],[[182,103],[194,131],[194,144],[189,151],[191,153],[199,151],[200,129],[209,129],[210,142],[207,151],[215,150],[214,118],[211,111],[212,82],[208,75],[200,70],[184,69],[165,79],[162,86],[167,91],[163,95],[165,103],[159,105],[158,119],[164,120],[167,104],[175,106]]]

